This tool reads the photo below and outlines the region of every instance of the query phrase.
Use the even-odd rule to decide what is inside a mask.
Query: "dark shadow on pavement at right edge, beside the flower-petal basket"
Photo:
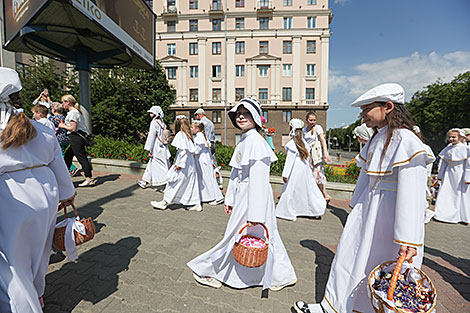
[[[424,247],[424,252],[449,262],[460,269],[465,275],[453,271],[430,258],[424,258],[423,264],[435,270],[467,301],[470,301],[470,260],[454,257],[446,252],[430,247]]]

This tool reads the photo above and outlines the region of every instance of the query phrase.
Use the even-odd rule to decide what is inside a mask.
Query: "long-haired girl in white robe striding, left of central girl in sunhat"
[[[182,204],[189,211],[202,211],[199,197],[193,136],[185,115],[176,116],[175,138],[171,145],[178,149],[173,166],[168,172],[168,183],[162,201],[152,201],[155,209],[165,210],[170,204]]]

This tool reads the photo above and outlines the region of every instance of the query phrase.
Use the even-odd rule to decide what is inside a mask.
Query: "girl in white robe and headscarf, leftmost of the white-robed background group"
[[[144,146],[144,149],[149,152],[149,162],[142,180],[137,181],[137,184],[142,188],[165,185],[168,180],[168,169],[170,168],[170,151],[168,150],[168,136],[166,134],[168,130],[163,122],[163,111],[158,105],[154,105],[147,112],[150,113],[152,121]]]

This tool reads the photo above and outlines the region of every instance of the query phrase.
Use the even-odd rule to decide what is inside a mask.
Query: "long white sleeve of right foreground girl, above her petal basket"
[[[424,210],[427,179],[424,155],[398,170],[394,241],[399,245],[420,247],[424,242]]]

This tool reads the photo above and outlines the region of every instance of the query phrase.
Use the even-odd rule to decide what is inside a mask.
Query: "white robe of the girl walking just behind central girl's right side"
[[[306,147],[307,143],[304,141]],[[297,216],[320,216],[325,213],[326,200],[313,177],[307,160],[300,158],[294,140],[286,148],[286,163],[282,177],[287,183],[282,187],[281,198],[276,207],[276,216],[295,221]]]

